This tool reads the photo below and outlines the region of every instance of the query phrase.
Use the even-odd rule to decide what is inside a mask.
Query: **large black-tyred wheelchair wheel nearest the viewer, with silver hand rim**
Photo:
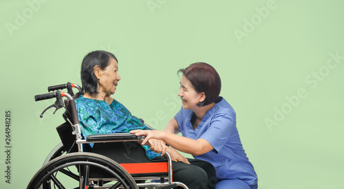
[[[90,179],[90,169],[111,176],[111,182],[103,186],[106,178]],[[31,179],[28,189],[50,188],[138,188],[133,177],[103,155],[95,153],[70,153],[56,157],[45,164]]]

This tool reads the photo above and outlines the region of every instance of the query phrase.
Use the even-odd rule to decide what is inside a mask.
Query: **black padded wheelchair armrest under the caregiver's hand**
[[[106,141],[125,141],[125,140],[141,140],[142,136],[136,136],[130,133],[109,133],[103,135],[88,135],[87,142],[106,142]]]

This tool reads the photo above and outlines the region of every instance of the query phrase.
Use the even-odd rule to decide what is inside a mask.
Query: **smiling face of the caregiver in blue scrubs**
[[[197,104],[204,100],[202,93],[197,93],[188,78],[184,75],[180,80],[178,96],[182,99],[184,109],[197,109]]]

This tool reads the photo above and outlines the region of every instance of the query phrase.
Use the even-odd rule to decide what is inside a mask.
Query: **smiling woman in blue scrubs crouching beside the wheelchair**
[[[179,72],[179,71],[178,71]],[[257,188],[257,175],[241,145],[235,111],[219,97],[221,80],[206,63],[194,63],[180,69],[182,109],[164,131],[131,131],[167,144],[195,159],[211,162],[216,169],[216,188]],[[183,136],[175,135],[182,133]]]

